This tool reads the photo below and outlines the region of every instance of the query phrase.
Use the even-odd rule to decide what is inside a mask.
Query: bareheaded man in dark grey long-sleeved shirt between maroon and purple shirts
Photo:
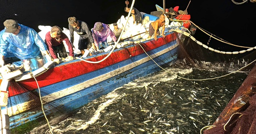
[[[70,30],[70,42],[74,43],[74,31],[79,34],[78,49],[81,51],[81,54],[84,55],[84,49],[93,48],[96,50],[94,45],[94,40],[92,36],[92,31],[90,27],[84,21],[77,20],[76,17],[68,18],[68,28]]]

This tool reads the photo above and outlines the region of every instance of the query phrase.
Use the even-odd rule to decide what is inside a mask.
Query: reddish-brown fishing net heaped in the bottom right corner
[[[221,112],[213,127],[204,134],[256,133],[256,67],[254,67],[236,94]]]

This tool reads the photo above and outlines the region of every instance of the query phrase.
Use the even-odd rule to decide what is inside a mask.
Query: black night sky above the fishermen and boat
[[[132,0],[129,1],[131,6]],[[134,7],[150,14],[156,11],[155,4],[162,6],[163,0],[135,0]],[[179,10],[185,10],[188,4],[189,0],[166,0],[168,9],[180,6]],[[125,0],[0,0],[0,30],[4,29],[6,19],[15,19],[38,32],[38,25],[68,28],[67,18],[71,16],[84,20],[92,28],[96,22],[111,24],[127,15],[125,6]],[[256,31],[256,3],[248,0],[236,5],[231,0],[191,0],[187,11],[193,23],[213,35],[236,45],[256,46],[255,34],[251,34]],[[204,44],[209,40],[199,29],[195,37]],[[209,45],[222,47],[214,39]]]

